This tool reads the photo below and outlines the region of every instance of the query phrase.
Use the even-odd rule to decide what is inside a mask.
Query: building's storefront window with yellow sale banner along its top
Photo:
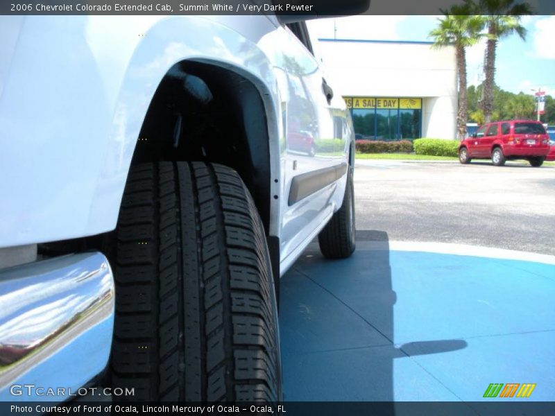
[[[366,140],[413,140],[420,138],[421,98],[345,97],[355,137]]]

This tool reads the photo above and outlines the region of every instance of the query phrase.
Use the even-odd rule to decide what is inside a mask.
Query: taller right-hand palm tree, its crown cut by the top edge
[[[495,85],[495,50],[497,41],[516,33],[522,40],[526,39],[526,28],[520,24],[523,15],[531,15],[528,3],[515,3],[515,0],[465,0],[466,6],[473,12],[484,15],[488,29],[486,57],[484,59],[484,110],[486,123],[491,121],[493,112],[493,87]]]

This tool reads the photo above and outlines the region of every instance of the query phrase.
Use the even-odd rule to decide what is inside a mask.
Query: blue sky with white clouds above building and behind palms
[[[355,16],[309,21],[316,37],[370,40],[430,41],[437,16]],[[531,89],[547,91],[555,97],[555,16],[527,16],[526,41],[518,35],[508,37],[497,46],[495,83],[514,93],[533,94]],[[469,85],[484,79],[482,65],[484,45],[481,42],[467,51]]]

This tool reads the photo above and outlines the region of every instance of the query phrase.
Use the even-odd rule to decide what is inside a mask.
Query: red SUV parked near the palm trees
[[[495,166],[503,166],[507,160],[527,159],[538,167],[547,153],[549,136],[542,123],[533,120],[486,123],[459,145],[462,164],[472,159],[491,159]]]

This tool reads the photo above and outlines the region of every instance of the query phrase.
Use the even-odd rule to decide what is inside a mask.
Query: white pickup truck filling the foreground
[[[0,16],[1,400],[282,399],[279,277],[355,250],[305,18]]]

